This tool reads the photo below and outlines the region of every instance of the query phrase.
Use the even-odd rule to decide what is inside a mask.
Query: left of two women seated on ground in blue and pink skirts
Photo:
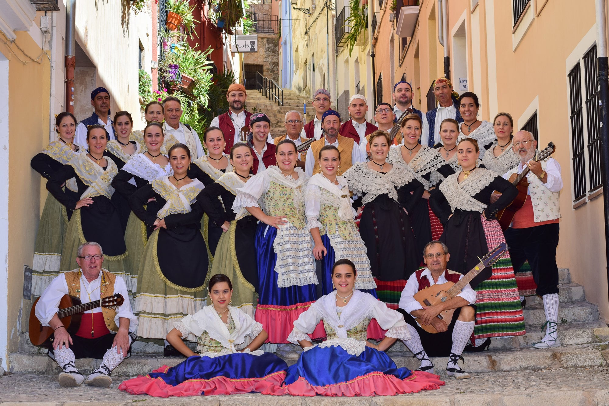
[[[262,324],[230,306],[233,287],[223,274],[208,284],[211,305],[174,323],[167,341],[188,357],[146,376],[125,380],[120,390],[150,396],[196,396],[260,392],[272,394],[286,376],[285,361],[258,348],[268,337]],[[182,338],[195,337],[197,352]],[[252,340],[249,344],[245,340]]]

